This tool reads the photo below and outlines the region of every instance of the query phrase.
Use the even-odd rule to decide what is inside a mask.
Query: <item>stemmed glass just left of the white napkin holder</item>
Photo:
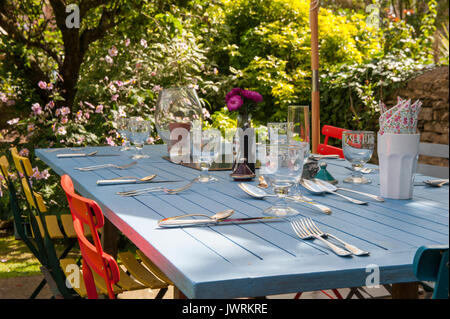
[[[345,131],[342,133],[342,150],[344,157],[352,164],[352,175],[344,182],[368,184],[372,181],[363,177],[360,170],[372,157],[375,145],[375,133],[372,131]]]

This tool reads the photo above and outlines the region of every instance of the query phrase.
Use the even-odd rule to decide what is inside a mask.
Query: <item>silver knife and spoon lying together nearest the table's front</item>
[[[216,226],[216,225],[229,225],[229,224],[247,224],[255,222],[268,222],[268,221],[281,221],[283,220],[278,216],[258,216],[258,217],[245,217],[245,218],[228,218],[234,214],[234,210],[227,209],[214,214],[213,216],[205,214],[186,214],[174,217],[163,218],[158,221],[158,226],[161,228],[166,227],[180,227],[180,226]],[[204,216],[206,219],[186,219],[187,217]]]

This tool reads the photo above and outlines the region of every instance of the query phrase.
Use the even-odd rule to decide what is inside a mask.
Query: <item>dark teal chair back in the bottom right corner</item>
[[[421,281],[435,283],[433,299],[448,299],[448,245],[422,246],[413,261],[414,275]]]

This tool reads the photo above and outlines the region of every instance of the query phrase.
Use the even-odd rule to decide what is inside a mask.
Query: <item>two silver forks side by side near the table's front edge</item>
[[[294,232],[303,240],[308,239],[318,239],[324,244],[326,244],[336,255],[341,257],[349,257],[351,255],[356,256],[366,256],[370,253],[368,251],[362,250],[354,245],[351,245],[342,239],[337,238],[335,235],[330,233],[324,233],[321,231],[314,221],[311,218],[300,218],[291,221],[291,227]],[[343,245],[340,247],[338,245],[333,244],[328,240],[331,238],[335,240],[339,245]]]

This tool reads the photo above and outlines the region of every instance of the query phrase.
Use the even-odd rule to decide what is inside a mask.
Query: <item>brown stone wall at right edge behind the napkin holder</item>
[[[396,104],[397,96],[423,103],[418,123],[421,142],[449,144],[448,67],[439,67],[417,76],[405,88],[395,92],[387,105]],[[420,156],[419,163],[448,166],[448,159]]]

